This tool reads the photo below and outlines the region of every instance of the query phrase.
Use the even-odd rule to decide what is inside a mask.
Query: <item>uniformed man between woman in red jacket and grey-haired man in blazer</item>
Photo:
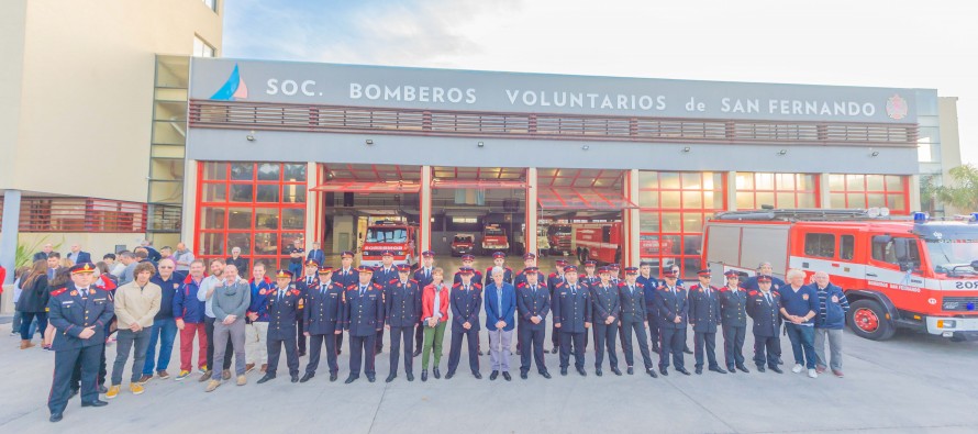
[[[468,344],[468,365],[473,377],[482,379],[479,374],[479,309],[482,305],[482,286],[473,281],[476,270],[471,267],[458,269],[462,281],[452,286],[449,307],[452,308],[452,347],[448,350],[448,374],[455,376],[458,359],[462,357],[462,338]]]

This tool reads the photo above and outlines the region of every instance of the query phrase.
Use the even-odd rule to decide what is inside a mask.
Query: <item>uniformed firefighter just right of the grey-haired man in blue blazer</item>
[[[551,311],[551,292],[537,282],[538,276],[534,269],[536,267],[526,267],[523,274],[526,275],[526,282],[520,283],[516,288],[516,308],[520,315],[520,343],[523,348],[520,352],[520,378],[526,379],[530,372],[531,357],[536,359],[536,371],[543,378],[551,378],[547,371],[546,363],[544,363],[543,341],[546,334],[546,318]],[[563,283],[563,270],[560,272]],[[557,344],[554,344],[557,348]]]

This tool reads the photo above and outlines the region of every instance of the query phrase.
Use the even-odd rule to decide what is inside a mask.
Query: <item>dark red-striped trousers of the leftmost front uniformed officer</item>
[[[71,396],[71,372],[75,364],[81,360],[81,402],[99,399],[98,376],[99,355],[105,344],[86,346],[75,349],[62,349],[54,354],[54,380],[47,398],[47,409],[52,413],[60,413],[68,405]]]

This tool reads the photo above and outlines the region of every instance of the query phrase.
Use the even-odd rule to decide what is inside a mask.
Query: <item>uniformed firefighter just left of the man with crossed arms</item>
[[[774,290],[774,279],[770,276],[758,276],[759,290],[747,293],[747,314],[754,320],[754,363],[757,370],[764,372],[764,365],[768,369],[781,374],[778,359],[781,357],[781,341],[778,332],[781,330],[781,294]]]

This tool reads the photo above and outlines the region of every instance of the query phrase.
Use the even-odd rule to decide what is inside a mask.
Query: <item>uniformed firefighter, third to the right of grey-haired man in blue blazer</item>
[[[594,374],[601,377],[601,364],[604,361],[604,349],[608,349],[608,361],[611,371],[620,376],[618,368],[618,350],[614,347],[615,334],[618,334],[619,319],[621,316],[621,300],[618,296],[618,286],[611,283],[611,269],[601,267],[598,270],[601,279],[591,286],[591,308],[593,314],[591,322],[594,324]]]

